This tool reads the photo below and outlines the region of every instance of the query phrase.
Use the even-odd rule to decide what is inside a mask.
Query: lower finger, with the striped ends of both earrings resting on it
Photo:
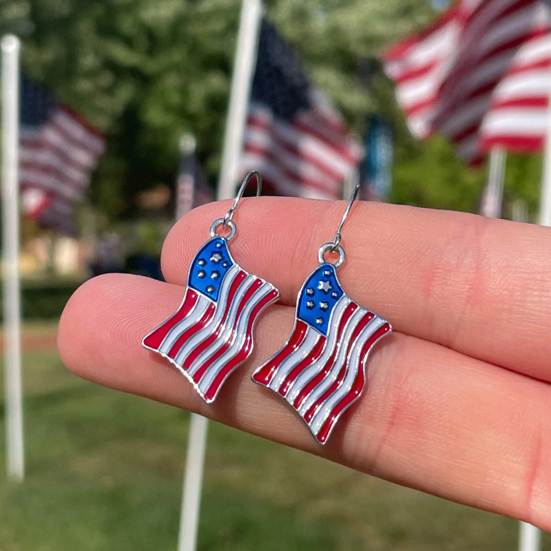
[[[255,349],[214,404],[141,346],[181,287],[130,275],[87,282],[67,304],[59,351],[78,375],[173,404],[355,469],[551,528],[551,389],[518,373],[395,333],[368,360],[368,386],[318,444],[251,371],[286,340],[293,308],[256,325]]]

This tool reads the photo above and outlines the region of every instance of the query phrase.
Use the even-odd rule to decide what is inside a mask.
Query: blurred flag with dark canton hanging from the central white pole
[[[295,52],[263,20],[242,173],[260,171],[274,194],[336,199],[361,156],[340,114],[306,79]]]

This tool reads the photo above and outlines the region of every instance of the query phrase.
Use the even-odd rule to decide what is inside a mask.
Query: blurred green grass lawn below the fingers
[[[27,472],[6,483],[1,410],[0,550],[176,550],[188,414],[84,382],[54,351],[23,360]],[[505,551],[517,531],[209,424],[201,551]]]

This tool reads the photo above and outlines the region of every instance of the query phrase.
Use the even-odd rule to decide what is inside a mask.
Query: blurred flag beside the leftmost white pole
[[[23,205],[41,225],[74,231],[74,204],[104,147],[102,134],[81,114],[21,77],[20,185]]]

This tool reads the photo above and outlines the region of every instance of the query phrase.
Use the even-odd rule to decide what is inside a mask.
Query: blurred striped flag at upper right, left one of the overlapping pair
[[[434,132],[468,163],[484,157],[480,129],[519,48],[549,32],[541,0],[461,0],[384,54],[415,136]]]

